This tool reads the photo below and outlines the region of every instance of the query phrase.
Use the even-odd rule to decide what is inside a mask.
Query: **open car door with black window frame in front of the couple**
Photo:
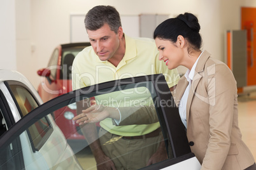
[[[166,160],[162,160],[150,166],[141,166],[138,169],[200,169],[201,166],[188,145],[185,128],[180,120],[178,108],[176,108],[171,92],[162,74],[131,77],[96,84],[59,96],[35,108],[0,138],[0,152],[9,152],[9,148],[14,148],[13,146],[15,146],[15,153],[10,153],[10,155],[5,157],[4,160],[6,161],[4,164],[8,165],[8,163],[13,163],[15,155],[24,152],[24,147],[20,147],[16,143],[18,143],[21,136],[24,135],[29,128],[35,126],[43,117],[50,117],[52,112],[56,110],[59,110],[59,112],[62,112],[62,115],[64,115],[65,110],[63,108],[67,106],[78,107],[76,103],[80,103],[79,105],[82,103],[83,108],[90,107],[90,98],[94,98],[96,100],[94,103],[96,102],[97,105],[119,108],[122,114],[125,115],[125,121],[122,126],[137,126],[138,124],[151,123],[159,125],[162,135],[161,141],[164,141],[167,158]],[[113,122],[111,119],[106,121]],[[100,125],[103,129],[104,124],[101,123]],[[113,129],[116,128],[115,126],[117,125],[113,124]],[[94,133],[92,129],[86,127],[86,125],[82,126],[81,129],[77,129],[77,131],[81,133],[83,129],[83,133]],[[77,133],[77,131],[73,133]],[[99,130],[99,134],[101,133],[100,131],[101,129]],[[110,130],[107,129],[106,131]],[[120,136],[115,138],[115,140],[101,143],[101,147],[118,142],[118,140],[123,137],[124,136]],[[97,136],[97,138],[101,138],[101,135]],[[140,155],[140,153],[148,150],[148,147],[155,145],[155,143],[160,143],[161,141],[152,141],[149,145],[145,145],[138,150],[130,150],[129,153]],[[60,143],[61,141],[55,141],[55,146],[58,146]],[[80,148],[76,148],[76,150],[78,150],[78,152],[75,153],[76,159],[78,159],[83,169],[97,169],[96,160],[89,145],[90,141],[83,147],[77,145]],[[46,149],[43,152],[43,155],[48,155],[49,159],[55,157],[55,153],[52,152],[51,149]],[[127,150],[129,150],[129,148],[127,148]],[[124,157],[129,153],[117,154],[114,159]],[[138,161],[147,162],[148,158],[140,157]],[[33,162],[31,162],[31,164],[33,164]],[[126,167],[124,167],[124,169],[125,168]]]

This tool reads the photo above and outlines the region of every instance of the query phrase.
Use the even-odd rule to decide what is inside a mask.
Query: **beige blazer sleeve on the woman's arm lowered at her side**
[[[236,81],[224,64],[208,68],[208,74],[210,140],[202,169],[222,169],[231,146]]]

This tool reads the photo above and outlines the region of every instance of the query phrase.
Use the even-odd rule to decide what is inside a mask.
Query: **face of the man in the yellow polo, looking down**
[[[106,23],[100,29],[87,30],[87,33],[89,35],[90,44],[101,61],[109,60],[115,55],[119,48],[120,39],[122,39],[123,36],[121,27],[116,34]]]

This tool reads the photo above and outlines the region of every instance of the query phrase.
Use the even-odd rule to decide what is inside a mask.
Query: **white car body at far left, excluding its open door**
[[[50,114],[11,136],[27,126],[23,119],[30,118],[27,114],[41,104],[37,91],[22,74],[0,70],[0,169],[82,169]],[[6,136],[11,138],[7,145]]]

